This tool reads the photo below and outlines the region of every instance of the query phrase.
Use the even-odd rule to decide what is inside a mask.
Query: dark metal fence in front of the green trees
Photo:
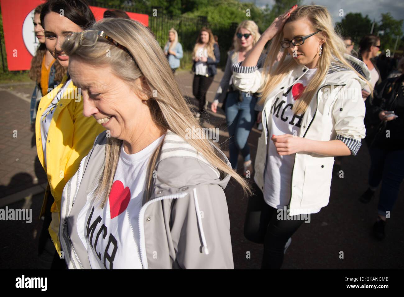
[[[232,24],[220,24],[209,23],[207,18],[200,16],[198,18],[189,18],[182,16],[170,16],[162,13],[163,9],[160,7],[154,7],[150,10],[146,10],[141,4],[135,3],[131,6],[123,5],[111,5],[104,1],[88,1],[92,6],[122,9],[133,13],[142,13],[149,15],[149,28],[155,34],[156,39],[160,46],[163,48],[168,40],[168,30],[174,28],[178,32],[178,39],[184,50],[184,57],[181,60],[181,68],[189,67],[191,63],[191,53],[194,48],[196,38],[202,27],[208,27],[212,30],[213,34],[218,38],[218,44],[221,54],[219,67],[223,67],[226,64],[227,51],[230,49],[234,32],[236,31],[237,23]],[[157,10],[157,16],[154,16],[153,9]],[[6,49],[4,46],[4,35],[0,32],[0,54],[1,54],[1,66],[0,71],[8,72],[6,61]]]

